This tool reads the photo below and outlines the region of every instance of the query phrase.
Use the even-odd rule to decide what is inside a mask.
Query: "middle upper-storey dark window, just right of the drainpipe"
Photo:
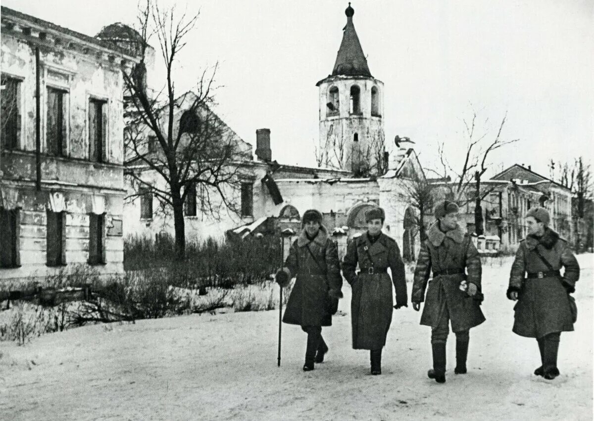
[[[66,91],[48,87],[48,116],[46,118],[46,145],[50,155],[66,155],[67,138]]]

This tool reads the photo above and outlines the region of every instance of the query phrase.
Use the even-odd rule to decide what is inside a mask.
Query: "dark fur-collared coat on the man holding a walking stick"
[[[311,253],[308,251],[311,251]],[[289,249],[283,270],[296,276],[295,285],[287,301],[283,322],[304,326],[331,326],[328,301],[329,290],[334,297],[342,296],[342,276],[336,244],[328,238],[328,231],[320,227],[318,235],[309,241],[302,229]]]

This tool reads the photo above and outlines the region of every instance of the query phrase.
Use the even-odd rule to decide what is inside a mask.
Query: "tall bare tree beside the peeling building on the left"
[[[217,216],[222,208],[237,212],[236,196],[241,174],[233,160],[241,152],[238,138],[211,110],[214,106],[214,75],[204,71],[189,93],[175,90],[174,69],[179,53],[198,14],[179,13],[175,5],[162,9],[147,0],[138,15],[137,51],[141,61],[124,68],[129,93],[125,147],[131,160],[127,175],[144,192],[150,192],[166,208],[172,209],[175,248],[178,259],[185,259],[184,202],[196,199],[207,215]],[[149,39],[155,39],[157,55],[166,69],[161,91],[146,87]],[[184,109],[181,109],[181,107]],[[154,174],[151,179],[147,173]],[[163,183],[160,183],[162,180]],[[131,197],[138,195],[134,193]]]

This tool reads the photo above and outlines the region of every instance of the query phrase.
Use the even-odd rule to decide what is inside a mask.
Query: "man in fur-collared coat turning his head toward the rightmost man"
[[[421,243],[415,268],[412,303],[416,311],[425,308],[421,324],[431,326],[433,369],[428,377],[445,382],[445,343],[451,330],[456,334],[456,374],[466,373],[469,330],[485,321],[482,301],[481,259],[469,235],[457,222],[458,206],[448,200],[437,203],[437,221],[429,227],[427,238]],[[425,288],[430,273],[427,294]]]

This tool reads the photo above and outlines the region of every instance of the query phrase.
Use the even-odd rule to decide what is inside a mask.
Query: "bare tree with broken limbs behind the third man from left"
[[[489,193],[495,190],[495,187],[484,187],[481,184],[482,176],[488,170],[490,162],[488,161],[489,153],[499,149],[509,143],[517,142],[519,139],[504,140],[502,136],[503,127],[507,120],[507,113],[498,126],[497,133],[489,138],[489,130],[484,128],[488,119],[485,119],[483,124],[479,127],[478,112],[472,110],[472,116],[463,119],[464,137],[467,141],[466,151],[464,152],[464,161],[462,168],[454,169],[450,161],[445,156],[445,143],[438,145],[438,155],[440,157],[440,169],[431,170],[442,178],[447,178],[453,174],[453,183],[447,183],[447,188],[450,191],[454,200],[459,202],[459,205],[466,205],[469,202],[475,202],[475,232],[478,235],[484,233],[483,229],[483,212],[482,200],[488,196]],[[457,152],[457,151],[456,151]],[[474,184],[474,189],[472,188]]]

